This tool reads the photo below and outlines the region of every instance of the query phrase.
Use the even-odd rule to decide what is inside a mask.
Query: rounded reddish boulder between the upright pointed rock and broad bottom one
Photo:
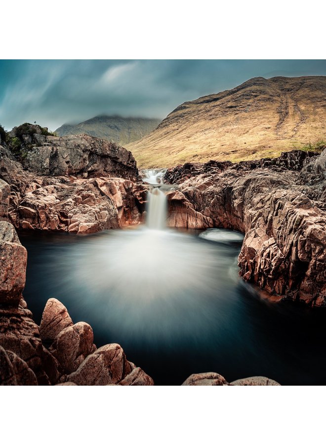
[[[50,348],[65,374],[76,371],[82,361],[96,350],[93,344],[93,330],[89,324],[80,321],[63,329]]]

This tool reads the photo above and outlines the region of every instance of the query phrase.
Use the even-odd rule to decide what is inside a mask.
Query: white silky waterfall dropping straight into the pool
[[[150,229],[163,230],[166,223],[166,196],[159,187],[147,193],[146,225]]]

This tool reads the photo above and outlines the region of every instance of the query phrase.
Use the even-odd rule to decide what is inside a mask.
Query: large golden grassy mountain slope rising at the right
[[[127,148],[139,167],[277,157],[326,139],[326,76],[256,77],[184,102]]]

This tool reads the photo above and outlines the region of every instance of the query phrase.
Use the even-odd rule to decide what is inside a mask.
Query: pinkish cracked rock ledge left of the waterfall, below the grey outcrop
[[[37,177],[7,156],[0,178],[10,183],[8,219],[17,228],[92,233],[142,219],[128,179]]]

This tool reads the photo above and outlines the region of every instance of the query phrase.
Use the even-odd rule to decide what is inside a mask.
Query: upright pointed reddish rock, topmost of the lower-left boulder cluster
[[[41,340],[52,343],[63,329],[72,325],[66,307],[55,298],[47,300],[40,325]]]

